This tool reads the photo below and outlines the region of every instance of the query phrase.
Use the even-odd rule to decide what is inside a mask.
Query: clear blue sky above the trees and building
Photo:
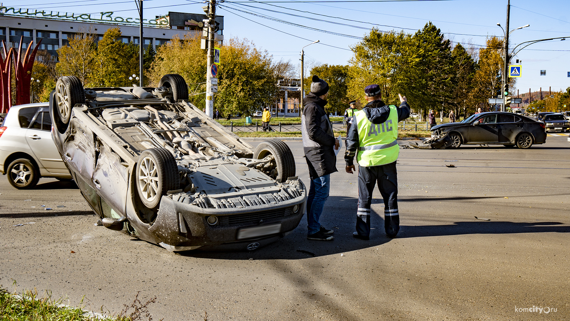
[[[47,2],[43,2],[55,3],[64,1],[65,0],[48,0]],[[238,1],[244,3],[232,3]],[[356,37],[362,37],[367,33],[367,29],[374,25],[384,25],[378,26],[380,30],[399,31],[402,30],[402,28],[408,28],[404,30],[409,33],[414,33],[416,30],[421,29],[425,23],[431,21],[439,27],[443,33],[447,33],[446,35],[451,41],[467,43],[464,44],[466,47],[484,45],[486,36],[502,36],[503,31],[500,27],[496,26],[496,23],[499,22],[503,27],[506,25],[506,0],[353,3],[280,1],[284,1],[284,3],[268,4],[251,0],[229,0],[222,2],[222,6],[219,7],[217,14],[224,16],[225,38],[247,38],[260,49],[269,51],[269,53],[274,56],[274,59],[291,59],[293,63],[299,63],[298,59],[301,47],[318,39],[320,43],[316,43],[305,49],[306,62],[309,64],[328,63],[340,65],[347,64],[348,60],[352,57],[352,52],[346,49],[349,49],[349,47],[358,42],[359,39],[304,29],[300,26],[287,25],[283,22],[276,22],[259,16],[276,18],[291,22],[294,25]],[[203,3],[195,3],[196,1],[194,0],[145,0],[144,2],[145,7],[149,8],[145,10],[145,18],[149,19],[154,18],[155,15],[167,14],[168,11],[202,13],[201,6],[204,5]],[[96,3],[107,4],[96,5]],[[5,6],[68,11],[70,13],[115,11],[116,13],[114,15],[116,16],[138,16],[134,0],[89,0],[58,3],[54,5],[41,4],[41,1],[38,0],[9,0],[3,1],[3,4]],[[287,9],[283,9],[282,7]],[[234,9],[249,12],[255,11],[258,16],[235,11]],[[300,15],[302,17],[295,17],[284,13]],[[322,15],[338,18],[323,17]],[[324,21],[316,21],[303,17],[316,18]],[[255,22],[261,23],[262,25]],[[349,26],[335,23],[343,23]],[[511,30],[527,24],[530,24],[530,27],[515,30],[511,33],[511,48],[518,43],[535,39],[570,37],[570,1],[555,0],[537,2],[531,0],[512,0]],[[270,27],[273,29],[270,29]],[[287,34],[278,30],[284,31]],[[294,37],[294,35],[310,39],[311,41]],[[331,46],[340,47],[342,49]],[[570,77],[567,77],[567,73],[570,71],[570,38],[565,41],[555,40],[540,42],[528,46],[525,50],[520,51],[518,57],[514,59],[522,60],[523,77],[518,78],[516,85],[522,93],[528,92],[529,88],[532,91],[539,90],[539,87],[542,87],[543,90],[548,90],[548,87],[552,86],[552,90],[555,91],[561,89],[565,90],[570,86]],[[546,70],[546,75],[540,76],[540,70]]]

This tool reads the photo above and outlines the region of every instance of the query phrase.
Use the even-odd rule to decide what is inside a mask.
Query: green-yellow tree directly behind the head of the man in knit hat
[[[344,110],[349,107],[348,102],[352,101],[347,97],[348,66],[327,65],[315,66],[311,69],[311,75],[304,80],[306,90],[310,90],[311,77],[317,75],[328,83],[328,104],[325,106],[327,113],[344,114]]]

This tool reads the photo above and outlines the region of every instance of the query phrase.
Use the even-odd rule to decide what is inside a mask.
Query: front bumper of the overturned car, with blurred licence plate
[[[304,194],[272,206],[201,208],[162,196],[158,216],[148,231],[156,237],[157,244],[170,251],[219,244],[239,247],[258,240],[282,238],[294,230],[303,217],[306,200]],[[296,212],[294,208],[298,208]],[[217,223],[210,225],[207,222],[209,216],[216,216]],[[253,234],[239,238],[244,235],[240,232],[243,228],[250,228]]]

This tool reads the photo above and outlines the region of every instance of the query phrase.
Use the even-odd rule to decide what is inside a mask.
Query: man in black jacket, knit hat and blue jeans
[[[325,113],[328,83],[313,76],[311,93],[303,99],[301,132],[303,150],[309,167],[311,186],[307,198],[307,239],[333,240],[332,230],[321,226],[319,219],[328,198],[331,173],[336,172],[336,155],[339,141],[332,133],[332,125]]]

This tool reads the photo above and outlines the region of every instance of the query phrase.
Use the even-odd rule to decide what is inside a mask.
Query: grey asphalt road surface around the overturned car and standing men
[[[302,144],[287,144],[308,183]],[[3,176],[0,284],[110,312],[140,291],[155,320],[567,320],[569,147],[402,149],[400,234],[384,235],[376,191],[369,241],[352,238],[356,174],[339,157],[321,218],[335,240],[308,241],[302,220],[254,252],[168,252],[93,226],[71,183],[18,191]],[[556,312],[518,310],[533,306]]]

